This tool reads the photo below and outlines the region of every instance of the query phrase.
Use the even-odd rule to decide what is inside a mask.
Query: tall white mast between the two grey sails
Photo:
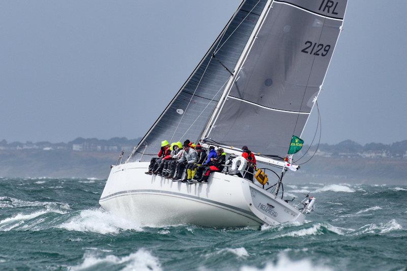
[[[267,2],[267,4],[266,4],[265,8],[264,8],[263,11],[261,12],[260,17],[258,18],[258,21],[257,21],[256,25],[255,25],[254,28],[253,28],[253,32],[252,32],[252,34],[250,35],[250,38],[249,38],[249,40],[248,40],[247,43],[246,43],[246,46],[245,46],[245,48],[244,48],[244,50],[243,50],[243,52],[242,52],[242,54],[241,54],[241,56],[240,56],[240,58],[239,58],[237,64],[236,64],[236,66],[235,66],[235,69],[233,70],[233,71],[234,71],[234,74],[230,76],[229,81],[226,83],[226,86],[225,86],[225,88],[224,88],[224,90],[223,90],[223,93],[222,93],[222,95],[220,96],[220,99],[219,99],[218,103],[216,104],[215,109],[214,109],[214,111],[213,111],[211,117],[209,118],[209,122],[208,122],[206,128],[205,128],[205,129],[203,130],[203,132],[201,133],[201,136],[200,136],[200,139],[201,139],[201,140],[204,139],[204,138],[206,138],[206,137],[208,136],[209,131],[211,130],[212,125],[214,124],[214,122],[215,122],[215,120],[216,120],[216,118],[217,118],[217,116],[218,116],[218,114],[219,114],[219,112],[220,112],[220,109],[222,108],[224,102],[226,101],[227,94],[229,93],[231,86],[233,85],[233,83],[234,83],[235,80],[236,80],[235,78],[236,78],[236,76],[237,76],[237,74],[238,74],[238,71],[239,71],[239,69],[241,68],[242,64],[244,63],[244,59],[246,58],[247,53],[248,53],[249,50],[250,50],[250,47],[253,45],[254,40],[256,39],[256,35],[257,35],[257,33],[258,33],[258,31],[259,31],[259,29],[260,29],[260,27],[261,27],[261,24],[263,24],[264,19],[266,18],[267,14],[268,14],[268,12],[269,12],[269,10],[270,10],[271,4],[273,3],[273,1],[274,1],[274,0],[268,0],[268,2]],[[233,34],[232,34],[232,35],[233,35]]]

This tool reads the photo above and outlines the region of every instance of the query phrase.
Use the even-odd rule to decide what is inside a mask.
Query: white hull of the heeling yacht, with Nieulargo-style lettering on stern
[[[105,209],[137,224],[253,227],[304,221],[292,205],[240,177],[212,173],[208,184],[188,185],[144,174],[149,163],[111,169],[100,198]]]

